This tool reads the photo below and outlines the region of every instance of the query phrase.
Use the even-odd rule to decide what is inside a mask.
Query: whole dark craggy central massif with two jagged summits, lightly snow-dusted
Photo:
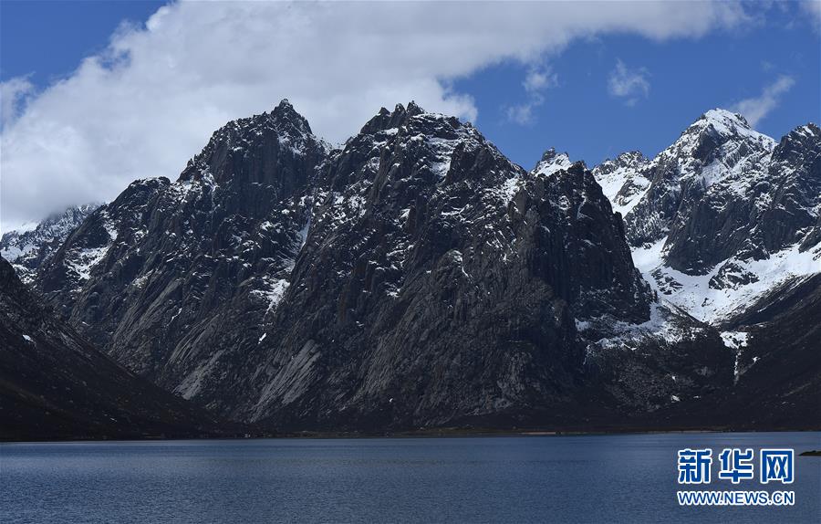
[[[38,287],[131,370],[275,427],[537,424],[580,417],[579,395],[675,402],[673,386],[603,389],[622,368],[599,342],[617,339],[654,341],[645,384],[721,383],[723,363],[703,372],[712,353],[685,344],[686,366],[654,363],[681,339],[625,328],[666,324],[624,223],[583,164],[547,156],[526,173],[413,103],[329,151],[283,102],[214,133],[177,182],[133,183],[89,216]]]

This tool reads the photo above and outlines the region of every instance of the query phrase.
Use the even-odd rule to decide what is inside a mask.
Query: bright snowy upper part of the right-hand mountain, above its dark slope
[[[663,301],[695,318],[725,323],[821,271],[816,125],[776,142],[711,110],[652,161],[620,168],[608,161],[593,172],[625,215],[634,262]]]

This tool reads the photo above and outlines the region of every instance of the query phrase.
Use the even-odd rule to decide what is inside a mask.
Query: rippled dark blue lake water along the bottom
[[[793,507],[680,507],[677,451],[756,449]],[[2,522],[821,522],[821,458],[758,482],[757,450],[818,433],[0,445]]]

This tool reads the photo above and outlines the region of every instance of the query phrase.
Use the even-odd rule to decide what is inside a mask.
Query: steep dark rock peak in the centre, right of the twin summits
[[[590,173],[528,175],[413,105],[377,119],[324,173],[331,189],[266,333],[278,350],[252,368],[268,371],[252,416],[413,427],[569,401],[584,360],[575,317],[649,315]]]

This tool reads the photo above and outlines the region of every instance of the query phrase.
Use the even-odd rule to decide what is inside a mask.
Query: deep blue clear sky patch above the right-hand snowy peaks
[[[660,152],[702,112],[732,108],[761,95],[780,77],[794,84],[756,125],[776,139],[807,121],[821,121],[819,38],[809,28],[788,29],[784,19],[737,34],[655,43],[635,36],[578,42],[550,60],[556,87],[546,89],[534,121],[506,118],[503,100],[526,102],[525,67],[488,68],[457,83],[473,94],[479,127],[517,162],[532,167],[546,145],[594,165],[619,152]],[[646,69],[647,96],[629,105],[608,92],[617,61]]]

